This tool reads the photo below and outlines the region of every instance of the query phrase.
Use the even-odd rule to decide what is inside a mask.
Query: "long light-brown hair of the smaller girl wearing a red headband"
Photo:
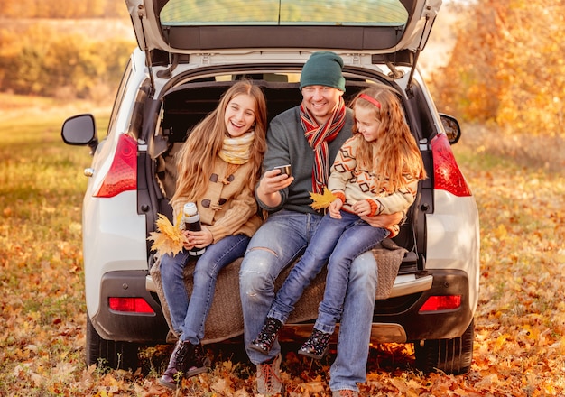
[[[364,99],[363,96],[374,100]],[[357,162],[375,173],[377,186],[386,186],[389,192],[393,192],[405,184],[403,174],[412,175],[416,180],[425,179],[421,152],[406,123],[400,99],[389,89],[366,88],[351,102],[354,112],[357,106],[372,109],[376,119],[381,122],[380,134],[372,142],[366,142],[363,134],[358,133],[357,123],[353,126],[353,135],[362,142],[357,152]]]

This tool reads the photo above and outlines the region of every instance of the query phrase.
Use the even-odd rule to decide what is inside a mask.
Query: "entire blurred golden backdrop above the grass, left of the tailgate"
[[[124,1],[0,0],[0,91],[111,101],[135,46],[128,23]]]

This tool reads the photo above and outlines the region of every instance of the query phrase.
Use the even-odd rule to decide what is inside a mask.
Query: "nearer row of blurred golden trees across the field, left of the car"
[[[93,97],[114,89],[134,42],[104,45],[81,34],[57,33],[41,24],[22,34],[0,34],[0,87],[15,94]]]

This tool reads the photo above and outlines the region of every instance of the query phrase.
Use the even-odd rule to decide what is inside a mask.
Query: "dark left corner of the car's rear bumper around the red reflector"
[[[100,305],[91,316],[93,327],[107,340],[154,343],[164,342],[169,327],[156,294],[145,288],[145,271],[107,272],[102,277]],[[110,309],[109,298],[143,298],[154,313],[134,313]]]

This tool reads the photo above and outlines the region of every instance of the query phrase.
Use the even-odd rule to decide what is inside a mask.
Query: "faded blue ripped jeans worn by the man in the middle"
[[[244,342],[255,365],[278,355],[275,341],[269,355],[248,348],[263,327],[271,308],[274,281],[282,270],[303,253],[322,216],[282,209],[270,215],[247,246],[239,272],[239,287],[244,314]],[[357,256],[351,263],[347,295],[338,336],[338,356],[331,366],[332,390],[358,390],[366,380],[371,323],[375,308],[376,263],[373,254]],[[318,302],[317,302],[318,303]]]

